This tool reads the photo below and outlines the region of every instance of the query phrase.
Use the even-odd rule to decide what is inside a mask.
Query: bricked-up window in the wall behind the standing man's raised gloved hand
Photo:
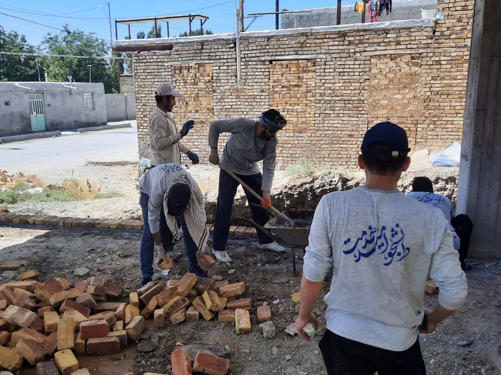
[[[182,142],[195,151],[203,162],[209,154],[207,134],[209,124],[214,119],[212,64],[174,65],[172,83],[183,95],[176,98],[176,106],[172,112],[178,129],[189,119],[195,121],[195,127]],[[183,163],[191,163],[185,155],[181,156]]]

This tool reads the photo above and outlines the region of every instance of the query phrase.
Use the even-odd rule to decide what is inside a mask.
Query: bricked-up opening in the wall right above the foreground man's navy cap
[[[421,55],[372,56],[369,78],[368,125],[392,121],[402,126],[414,149],[423,111]]]

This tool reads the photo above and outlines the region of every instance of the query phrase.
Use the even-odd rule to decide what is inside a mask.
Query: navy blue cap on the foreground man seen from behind
[[[391,150],[370,150],[373,143],[385,143]],[[379,122],[365,132],[362,141],[362,152],[378,154],[388,153],[388,156],[403,156],[410,151],[407,132],[400,126],[390,121]]]

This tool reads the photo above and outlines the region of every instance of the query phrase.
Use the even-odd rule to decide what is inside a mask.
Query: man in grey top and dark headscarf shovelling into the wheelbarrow
[[[276,135],[277,131],[281,130],[286,124],[286,119],[276,109],[263,112],[258,121],[241,117],[216,120],[210,123],[209,161],[214,165],[219,163],[217,152],[219,134],[223,132],[231,133],[221,155],[221,164],[263,196],[263,200],[260,202],[252,193],[244,189],[247,201],[249,203],[261,203],[266,209],[272,206],[270,191],[275,174],[278,143]],[[263,160],[263,174],[257,164],[261,160]],[[231,261],[225,248],[228,240],[231,209],[233,208],[233,200],[238,184],[239,182],[226,171],[223,169],[219,171],[219,193],[214,221],[212,253],[217,260],[224,262]],[[259,225],[265,225],[269,218],[267,213],[252,205],[250,209],[252,210],[253,220]],[[277,252],[285,251],[284,247],[259,230],[258,237],[260,248],[267,248]]]

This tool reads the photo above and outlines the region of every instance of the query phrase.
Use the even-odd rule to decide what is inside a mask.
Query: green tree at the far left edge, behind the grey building
[[[6,32],[0,25],[0,50],[6,52],[35,53],[36,48],[29,44],[25,35],[16,31]],[[40,62],[40,61],[39,61]],[[40,66],[40,76],[44,69]],[[37,60],[35,56],[0,54],[0,81],[38,81]]]

